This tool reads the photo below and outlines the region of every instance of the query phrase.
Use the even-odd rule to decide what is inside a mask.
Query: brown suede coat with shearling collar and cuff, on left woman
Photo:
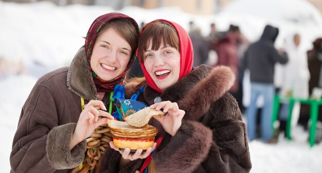
[[[96,87],[82,47],[70,67],[42,76],[24,104],[10,155],[10,172],[69,172],[83,162],[86,140],[69,151],[85,103]],[[61,169],[61,170],[58,170]]]

